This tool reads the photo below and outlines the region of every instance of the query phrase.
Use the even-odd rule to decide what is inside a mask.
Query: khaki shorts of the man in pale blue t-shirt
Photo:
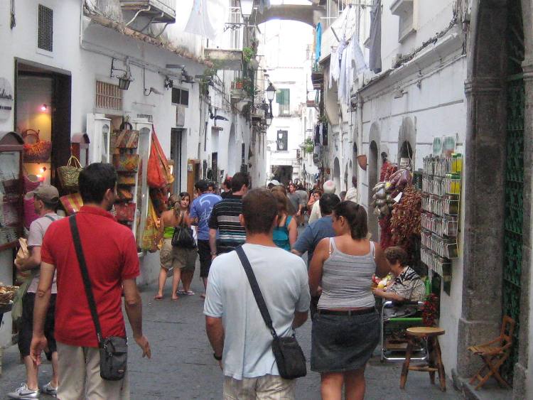
[[[243,378],[224,377],[224,400],[294,400],[296,379],[276,375]]]

